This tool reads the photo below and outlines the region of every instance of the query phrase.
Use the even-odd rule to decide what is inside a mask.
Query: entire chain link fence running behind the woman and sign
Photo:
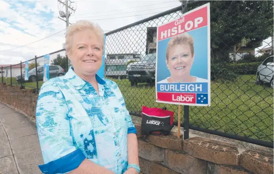
[[[207,2],[190,1],[188,10]],[[188,127],[273,148],[273,1],[210,2],[211,107],[190,106]],[[131,115],[141,116],[143,105],[166,107],[176,113],[174,124],[178,121],[177,105],[155,102],[155,53],[156,27],[180,18],[181,10],[106,33],[105,78],[119,85]],[[63,76],[70,64],[65,50],[49,55],[49,78]],[[43,56],[28,61],[28,81],[21,80],[26,62],[7,67],[7,78],[6,67],[0,67],[0,82],[39,92],[43,61]],[[184,127],[183,117],[181,122]]]

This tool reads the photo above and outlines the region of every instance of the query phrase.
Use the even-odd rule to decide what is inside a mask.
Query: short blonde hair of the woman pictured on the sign
[[[172,37],[169,40],[168,43],[168,48],[167,48],[167,54],[166,54],[166,60],[169,60],[169,50],[174,47],[175,45],[190,45],[190,50],[191,50],[191,54],[193,57],[194,54],[194,39],[192,38],[192,36],[188,33],[183,33],[180,35],[177,35],[175,37]]]

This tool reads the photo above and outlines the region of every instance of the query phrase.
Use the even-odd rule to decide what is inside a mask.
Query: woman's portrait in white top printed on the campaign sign
[[[169,40],[166,63],[170,77],[158,83],[207,82],[207,79],[190,76],[194,62],[194,40],[188,33],[172,37]]]

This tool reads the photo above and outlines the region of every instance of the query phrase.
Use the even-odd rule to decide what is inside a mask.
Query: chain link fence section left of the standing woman
[[[21,86],[22,89],[35,89],[39,93],[44,78],[44,61],[44,56],[40,56],[16,65],[0,67],[0,82]],[[50,53],[49,78],[64,76],[67,72],[67,63],[69,61],[64,49]]]

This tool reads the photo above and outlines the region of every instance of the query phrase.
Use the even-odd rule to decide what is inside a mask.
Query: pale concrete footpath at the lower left
[[[0,103],[0,174],[42,174],[36,124]]]

